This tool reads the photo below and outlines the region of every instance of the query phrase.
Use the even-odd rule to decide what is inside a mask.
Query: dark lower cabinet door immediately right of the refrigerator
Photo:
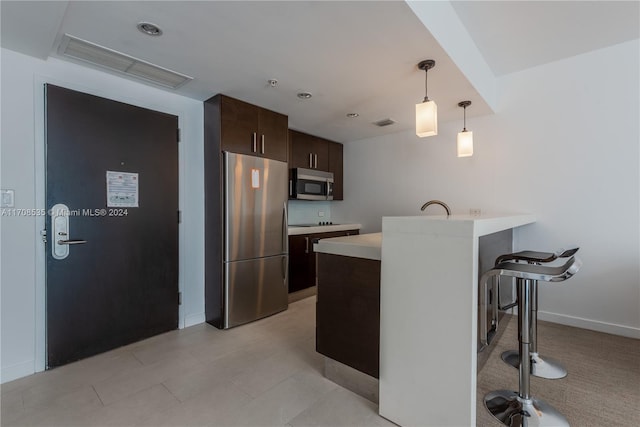
[[[316,284],[316,260],[311,234],[289,236],[289,293]]]

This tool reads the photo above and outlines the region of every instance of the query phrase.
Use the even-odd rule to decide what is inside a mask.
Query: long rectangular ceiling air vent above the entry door
[[[193,80],[193,77],[176,73],[68,34],[62,38],[58,53],[172,89],[177,89]]]

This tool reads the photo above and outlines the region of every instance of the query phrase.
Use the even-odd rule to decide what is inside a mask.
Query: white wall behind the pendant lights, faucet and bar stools
[[[515,249],[577,244],[584,261],[571,280],[541,285],[540,317],[640,338],[639,44],[499,79],[497,114],[467,120],[471,158],[456,157],[462,120],[436,137],[345,144],[345,201],[332,216],[376,232],[382,216],[419,215],[429,199],[454,213],[535,213]]]

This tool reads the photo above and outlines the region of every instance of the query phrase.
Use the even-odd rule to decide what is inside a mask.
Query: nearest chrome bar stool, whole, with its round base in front
[[[486,286],[492,276],[516,278],[518,287],[518,391],[497,390],[484,397],[487,410],[507,426],[568,426],[566,418],[551,405],[531,396],[531,300],[532,281],[561,282],[577,273],[582,262],[575,256],[561,266],[545,266],[502,262],[482,275],[481,284]],[[486,295],[486,292],[485,292]],[[497,305],[497,304],[496,304]],[[485,317],[485,316],[483,316]]]

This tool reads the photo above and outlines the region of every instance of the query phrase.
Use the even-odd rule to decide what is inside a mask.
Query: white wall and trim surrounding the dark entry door
[[[2,49],[2,188],[16,208],[44,207],[43,90],[45,82],[179,117],[180,324],[204,321],[204,165],[202,103],[56,59],[41,61]],[[44,367],[44,217],[0,220],[0,381]]]

